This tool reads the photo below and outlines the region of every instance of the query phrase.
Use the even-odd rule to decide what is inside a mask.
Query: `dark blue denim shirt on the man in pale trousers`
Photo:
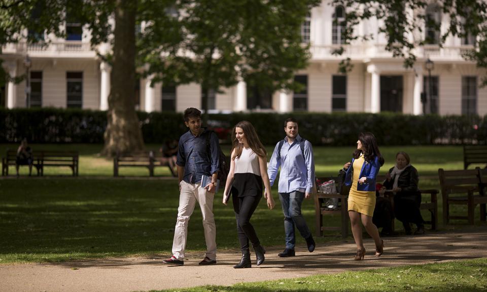
[[[210,137],[210,152],[207,152],[206,135]],[[220,170],[220,144],[217,134],[204,131],[194,136],[191,131],[184,133],[179,139],[178,160],[176,164],[184,167],[183,180],[189,184],[201,181],[201,176],[211,176]]]

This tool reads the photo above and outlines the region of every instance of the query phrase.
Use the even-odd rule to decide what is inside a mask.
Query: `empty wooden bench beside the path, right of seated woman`
[[[468,220],[468,224],[474,224],[474,210],[480,205],[480,220],[485,221],[485,170],[480,168],[464,170],[438,169],[440,179],[441,196],[443,199],[443,224],[448,224],[450,219]],[[450,215],[450,205],[467,205],[467,215]]]

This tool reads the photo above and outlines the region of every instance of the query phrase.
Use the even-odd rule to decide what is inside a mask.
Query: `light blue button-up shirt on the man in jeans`
[[[301,136],[297,135],[290,145],[288,137],[281,148],[281,160],[277,161],[279,142],[275,145],[274,152],[267,165],[270,185],[274,185],[277,170],[281,167],[279,175],[279,193],[292,193],[294,191],[311,193],[315,179],[315,160],[311,143],[304,141],[304,157],[299,142]]]

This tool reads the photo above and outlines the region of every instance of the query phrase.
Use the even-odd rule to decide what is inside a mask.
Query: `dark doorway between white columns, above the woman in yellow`
[[[402,76],[380,77],[380,111],[402,113]]]

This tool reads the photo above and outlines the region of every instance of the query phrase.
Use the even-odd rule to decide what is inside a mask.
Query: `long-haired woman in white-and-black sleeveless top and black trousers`
[[[223,203],[226,205],[228,196],[232,196],[238,241],[242,250],[240,263],[234,268],[251,268],[249,240],[255,250],[257,266],[264,262],[265,250],[260,245],[259,238],[250,223],[250,218],[262,198],[262,181],[268,190],[265,198],[267,207],[272,209],[275,202],[270,193],[270,182],[267,176],[267,154],[250,122],[241,121],[233,128],[231,157]]]

